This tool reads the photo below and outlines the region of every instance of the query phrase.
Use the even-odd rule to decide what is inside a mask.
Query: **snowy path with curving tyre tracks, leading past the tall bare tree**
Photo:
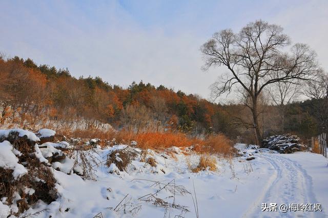
[[[313,191],[312,177],[296,161],[281,154],[263,154],[257,156],[268,161],[272,168],[272,175],[262,194],[257,197],[254,204],[244,213],[243,217],[327,217],[324,211],[297,211],[281,212],[279,205],[286,204],[316,204]],[[262,203],[277,203],[277,211],[262,211]]]

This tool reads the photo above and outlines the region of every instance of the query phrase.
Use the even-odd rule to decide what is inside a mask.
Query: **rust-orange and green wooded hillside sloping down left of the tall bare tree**
[[[1,58],[0,72],[2,124],[71,130],[110,124],[133,131],[174,129],[194,135],[229,129],[219,105],[162,85],[141,81],[122,88],[100,77],[75,78],[68,69],[38,66],[17,56]]]

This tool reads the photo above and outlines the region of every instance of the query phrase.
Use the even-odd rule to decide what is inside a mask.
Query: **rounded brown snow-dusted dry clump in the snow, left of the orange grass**
[[[107,155],[106,165],[109,167],[111,164],[115,164],[120,171],[125,171],[127,166],[137,156],[134,149],[126,147],[124,149],[115,150]]]

